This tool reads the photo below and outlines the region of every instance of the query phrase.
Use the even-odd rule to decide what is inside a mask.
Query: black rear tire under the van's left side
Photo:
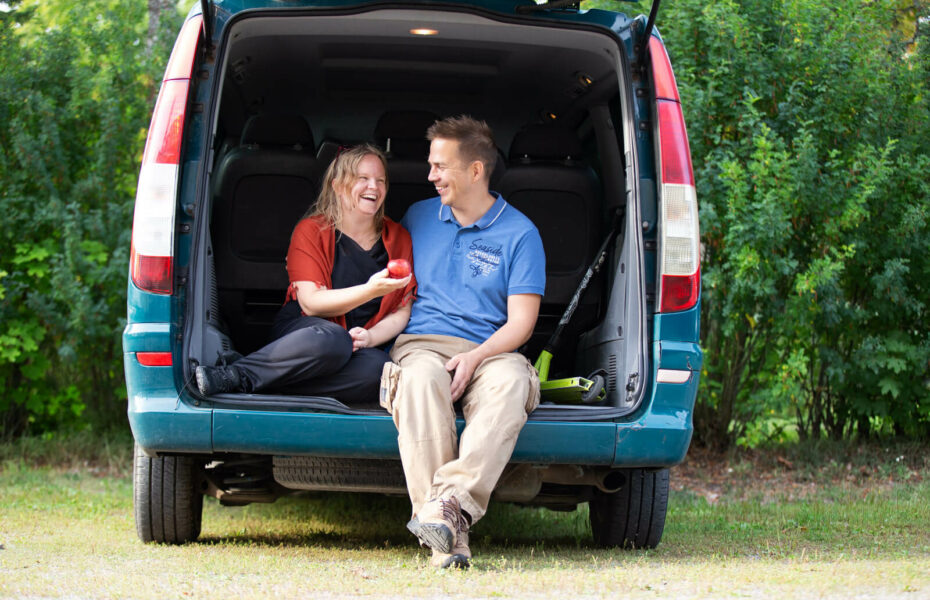
[[[136,444],[133,509],[146,543],[184,544],[200,535],[203,466],[190,456],[146,456]]]

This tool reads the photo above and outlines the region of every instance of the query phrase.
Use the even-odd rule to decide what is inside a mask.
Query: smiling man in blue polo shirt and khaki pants
[[[429,181],[438,197],[410,207],[417,301],[385,366],[382,405],[413,505],[407,525],[431,563],[467,567],[469,525],[484,516],[539,378],[515,352],[530,337],[545,291],[545,256],[532,222],[488,190],[497,148],[486,123],[435,122]],[[453,404],[465,430],[458,439]]]

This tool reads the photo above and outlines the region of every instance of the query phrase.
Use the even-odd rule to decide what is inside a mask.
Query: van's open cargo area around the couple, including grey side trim
[[[646,266],[636,184],[636,128],[620,40],[607,29],[471,9],[267,10],[225,24],[213,75],[218,103],[184,310],[187,368],[267,341],[288,285],[291,231],[340,147],[374,141],[388,154],[386,212],[400,220],[435,196],[426,127],[470,114],[500,150],[491,189],[538,227],[547,284],[531,361],[555,330],[601,243],[607,260],[554,349],[550,378],[607,372],[596,406],[544,404],[533,419],[603,420],[634,410],[644,388]],[[650,196],[651,197],[651,196]],[[228,394],[219,404],[340,413],[380,411],[377,398]],[[546,398],[543,399],[544,402]]]

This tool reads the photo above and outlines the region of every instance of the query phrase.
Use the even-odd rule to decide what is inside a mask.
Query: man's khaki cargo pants
[[[381,377],[381,406],[394,418],[397,444],[416,515],[432,498],[455,496],[477,521],[507,466],[529,413],[539,405],[539,377],[516,352],[488,358],[460,399],[458,439],[452,374],[446,362],[478,344],[444,335],[401,335]],[[395,364],[396,363],[396,364]]]

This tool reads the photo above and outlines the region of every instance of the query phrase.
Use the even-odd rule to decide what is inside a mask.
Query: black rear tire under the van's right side
[[[668,469],[626,471],[620,490],[594,490],[588,504],[591,532],[599,546],[655,548],[665,529],[668,510]]]

